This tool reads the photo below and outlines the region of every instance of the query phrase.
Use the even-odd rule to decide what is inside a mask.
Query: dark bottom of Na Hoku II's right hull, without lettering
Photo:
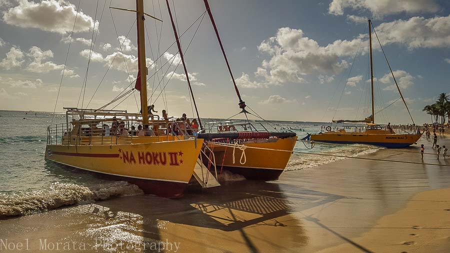
[[[217,167],[219,169],[220,166]],[[272,168],[252,168],[252,167],[233,167],[223,166],[223,169],[234,174],[239,174],[249,180],[273,181],[278,180],[278,177],[283,172],[283,169]]]

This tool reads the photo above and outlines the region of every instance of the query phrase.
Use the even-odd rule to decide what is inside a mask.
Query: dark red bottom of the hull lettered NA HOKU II
[[[60,163],[51,159],[46,158],[46,160],[58,163],[63,166],[68,166],[72,168],[76,168],[82,170],[84,172],[89,172],[101,179],[114,180],[114,181],[127,181],[131,184],[137,185],[142,191],[146,194],[154,194],[160,197],[167,198],[178,198],[182,197],[184,191],[186,190],[187,183],[181,182],[170,182],[170,181],[160,181],[160,180],[152,180],[152,179],[141,179],[141,178],[133,178],[128,176],[119,176],[119,175],[110,175],[101,172],[95,172],[92,170],[85,170],[83,168],[70,166],[64,163]]]

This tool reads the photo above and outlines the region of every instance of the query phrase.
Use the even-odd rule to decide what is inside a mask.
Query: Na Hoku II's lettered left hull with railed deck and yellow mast
[[[47,128],[45,158],[130,181],[147,193],[179,197],[194,169],[200,168],[202,175],[208,173],[199,156],[203,139],[173,136],[164,131],[169,127],[168,120],[149,120],[144,17],[152,16],[144,13],[143,0],[136,0],[136,7],[135,11],[124,10],[136,12],[139,70],[135,88],[140,90],[141,113],[65,108],[66,123]],[[154,136],[129,134],[125,129],[133,124],[142,124]]]

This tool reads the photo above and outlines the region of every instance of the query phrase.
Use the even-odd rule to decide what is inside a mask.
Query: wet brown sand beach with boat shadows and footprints
[[[421,162],[396,150],[364,157]],[[448,166],[345,159],[181,199],[125,196],[0,220],[0,239],[100,252],[440,251],[450,247],[448,187]]]

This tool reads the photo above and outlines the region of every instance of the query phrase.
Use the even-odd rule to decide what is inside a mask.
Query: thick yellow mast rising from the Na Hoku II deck
[[[136,0],[136,26],[137,26],[137,66],[138,73],[136,86],[140,84],[140,109],[142,114],[142,124],[148,124],[147,111],[147,66],[145,58],[145,26],[143,0]]]

